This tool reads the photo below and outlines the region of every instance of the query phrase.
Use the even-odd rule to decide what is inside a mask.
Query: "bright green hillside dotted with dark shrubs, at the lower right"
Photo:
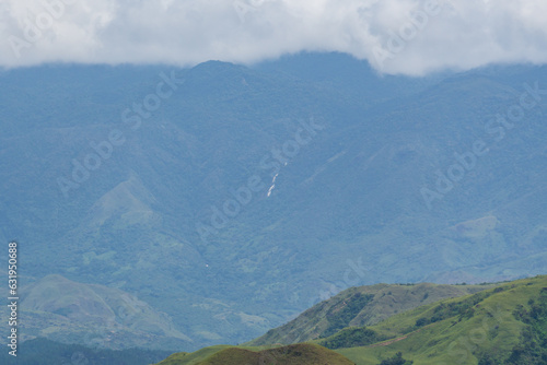
[[[345,329],[317,343],[358,365],[376,365],[398,352],[420,365],[532,365],[547,362],[546,329],[547,276],[536,276]]]

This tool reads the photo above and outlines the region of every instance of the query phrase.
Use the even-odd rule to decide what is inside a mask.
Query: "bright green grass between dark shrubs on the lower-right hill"
[[[473,316],[466,318],[454,315],[421,328],[416,328],[416,322],[420,318],[432,317],[441,304],[458,304],[473,298],[473,295],[416,308],[370,327],[377,332],[391,333],[393,339],[404,339],[393,343],[385,341],[385,345],[336,351],[358,365],[376,365],[397,352],[420,365],[476,365],[482,354],[492,350],[509,356],[520,343],[521,332],[525,328],[525,325],[513,316],[513,311],[519,305],[528,307],[529,299],[537,296],[546,285],[547,276],[502,284],[499,286],[501,290],[482,293],[482,296],[487,297],[472,307]]]

